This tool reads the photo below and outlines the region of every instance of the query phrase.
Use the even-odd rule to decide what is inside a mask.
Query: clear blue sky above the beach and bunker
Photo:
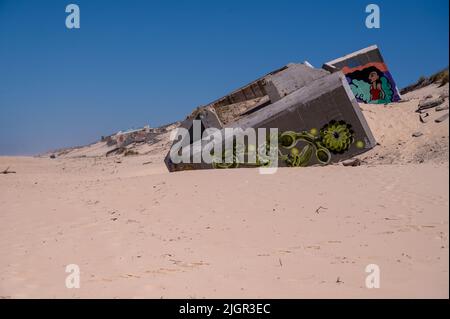
[[[369,3],[381,29],[365,28]],[[0,154],[180,120],[288,62],[371,44],[403,87],[448,65],[448,12],[448,0],[0,0]]]

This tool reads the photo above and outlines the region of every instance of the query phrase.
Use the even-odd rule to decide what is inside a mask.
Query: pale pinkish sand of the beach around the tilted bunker
[[[0,157],[16,171],[0,174],[0,296],[448,298],[448,120],[407,121],[417,102],[364,112],[382,145],[360,167],[168,173],[164,143]],[[439,151],[421,158],[429,143]],[[65,287],[68,264],[80,289]],[[368,264],[379,289],[365,286]]]

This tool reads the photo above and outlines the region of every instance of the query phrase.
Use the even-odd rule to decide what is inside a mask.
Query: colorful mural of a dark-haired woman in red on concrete
[[[395,82],[382,62],[372,62],[354,68],[344,67],[342,72],[359,102],[386,104],[400,100]]]

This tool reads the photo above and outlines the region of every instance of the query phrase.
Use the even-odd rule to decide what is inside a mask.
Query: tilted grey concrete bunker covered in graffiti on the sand
[[[352,59],[361,65],[350,68],[348,65]],[[225,136],[223,132],[227,128],[243,131],[247,128],[277,128],[278,166],[324,165],[361,154],[373,148],[376,141],[358,105],[358,101],[364,100],[355,86],[362,85],[357,82],[362,80],[353,81],[355,78],[348,71],[374,65],[381,67],[382,61],[378,48],[370,47],[328,62],[322,69],[291,63],[270,72],[197,108],[180,126],[189,134],[180,135],[173,144],[193,146],[189,159],[175,163],[169,152],[165,158],[166,166],[169,171],[255,166],[246,163],[215,165],[203,160],[196,162],[195,158],[201,157],[196,155],[202,152],[207,139],[203,140],[198,134],[194,136],[194,120],[200,122],[199,131],[202,134],[214,128],[221,130],[221,136]],[[387,69],[383,70],[386,77]],[[376,86],[374,88],[377,89]],[[392,101],[398,100],[400,97],[396,87],[390,88],[393,89],[392,94],[386,96],[389,95]],[[373,89],[372,93],[377,94]]]

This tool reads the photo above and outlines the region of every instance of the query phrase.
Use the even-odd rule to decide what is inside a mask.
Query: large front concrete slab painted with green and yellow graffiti
[[[289,87],[290,79],[287,79]],[[202,122],[203,123],[203,122]],[[376,141],[342,72],[320,77],[261,109],[229,125],[231,128],[278,128],[279,166],[307,166],[352,158],[376,145]],[[221,136],[225,136],[224,128]],[[283,138],[294,135],[293,145]],[[195,142],[191,140],[191,142]],[[226,139],[221,140],[225,143]],[[193,163],[205,143],[192,152],[190,163],[175,164],[169,154],[170,171],[213,168]],[[293,150],[297,150],[293,152]],[[320,153],[322,152],[322,153]],[[324,160],[324,156],[326,160]],[[240,165],[242,167],[245,165]]]

